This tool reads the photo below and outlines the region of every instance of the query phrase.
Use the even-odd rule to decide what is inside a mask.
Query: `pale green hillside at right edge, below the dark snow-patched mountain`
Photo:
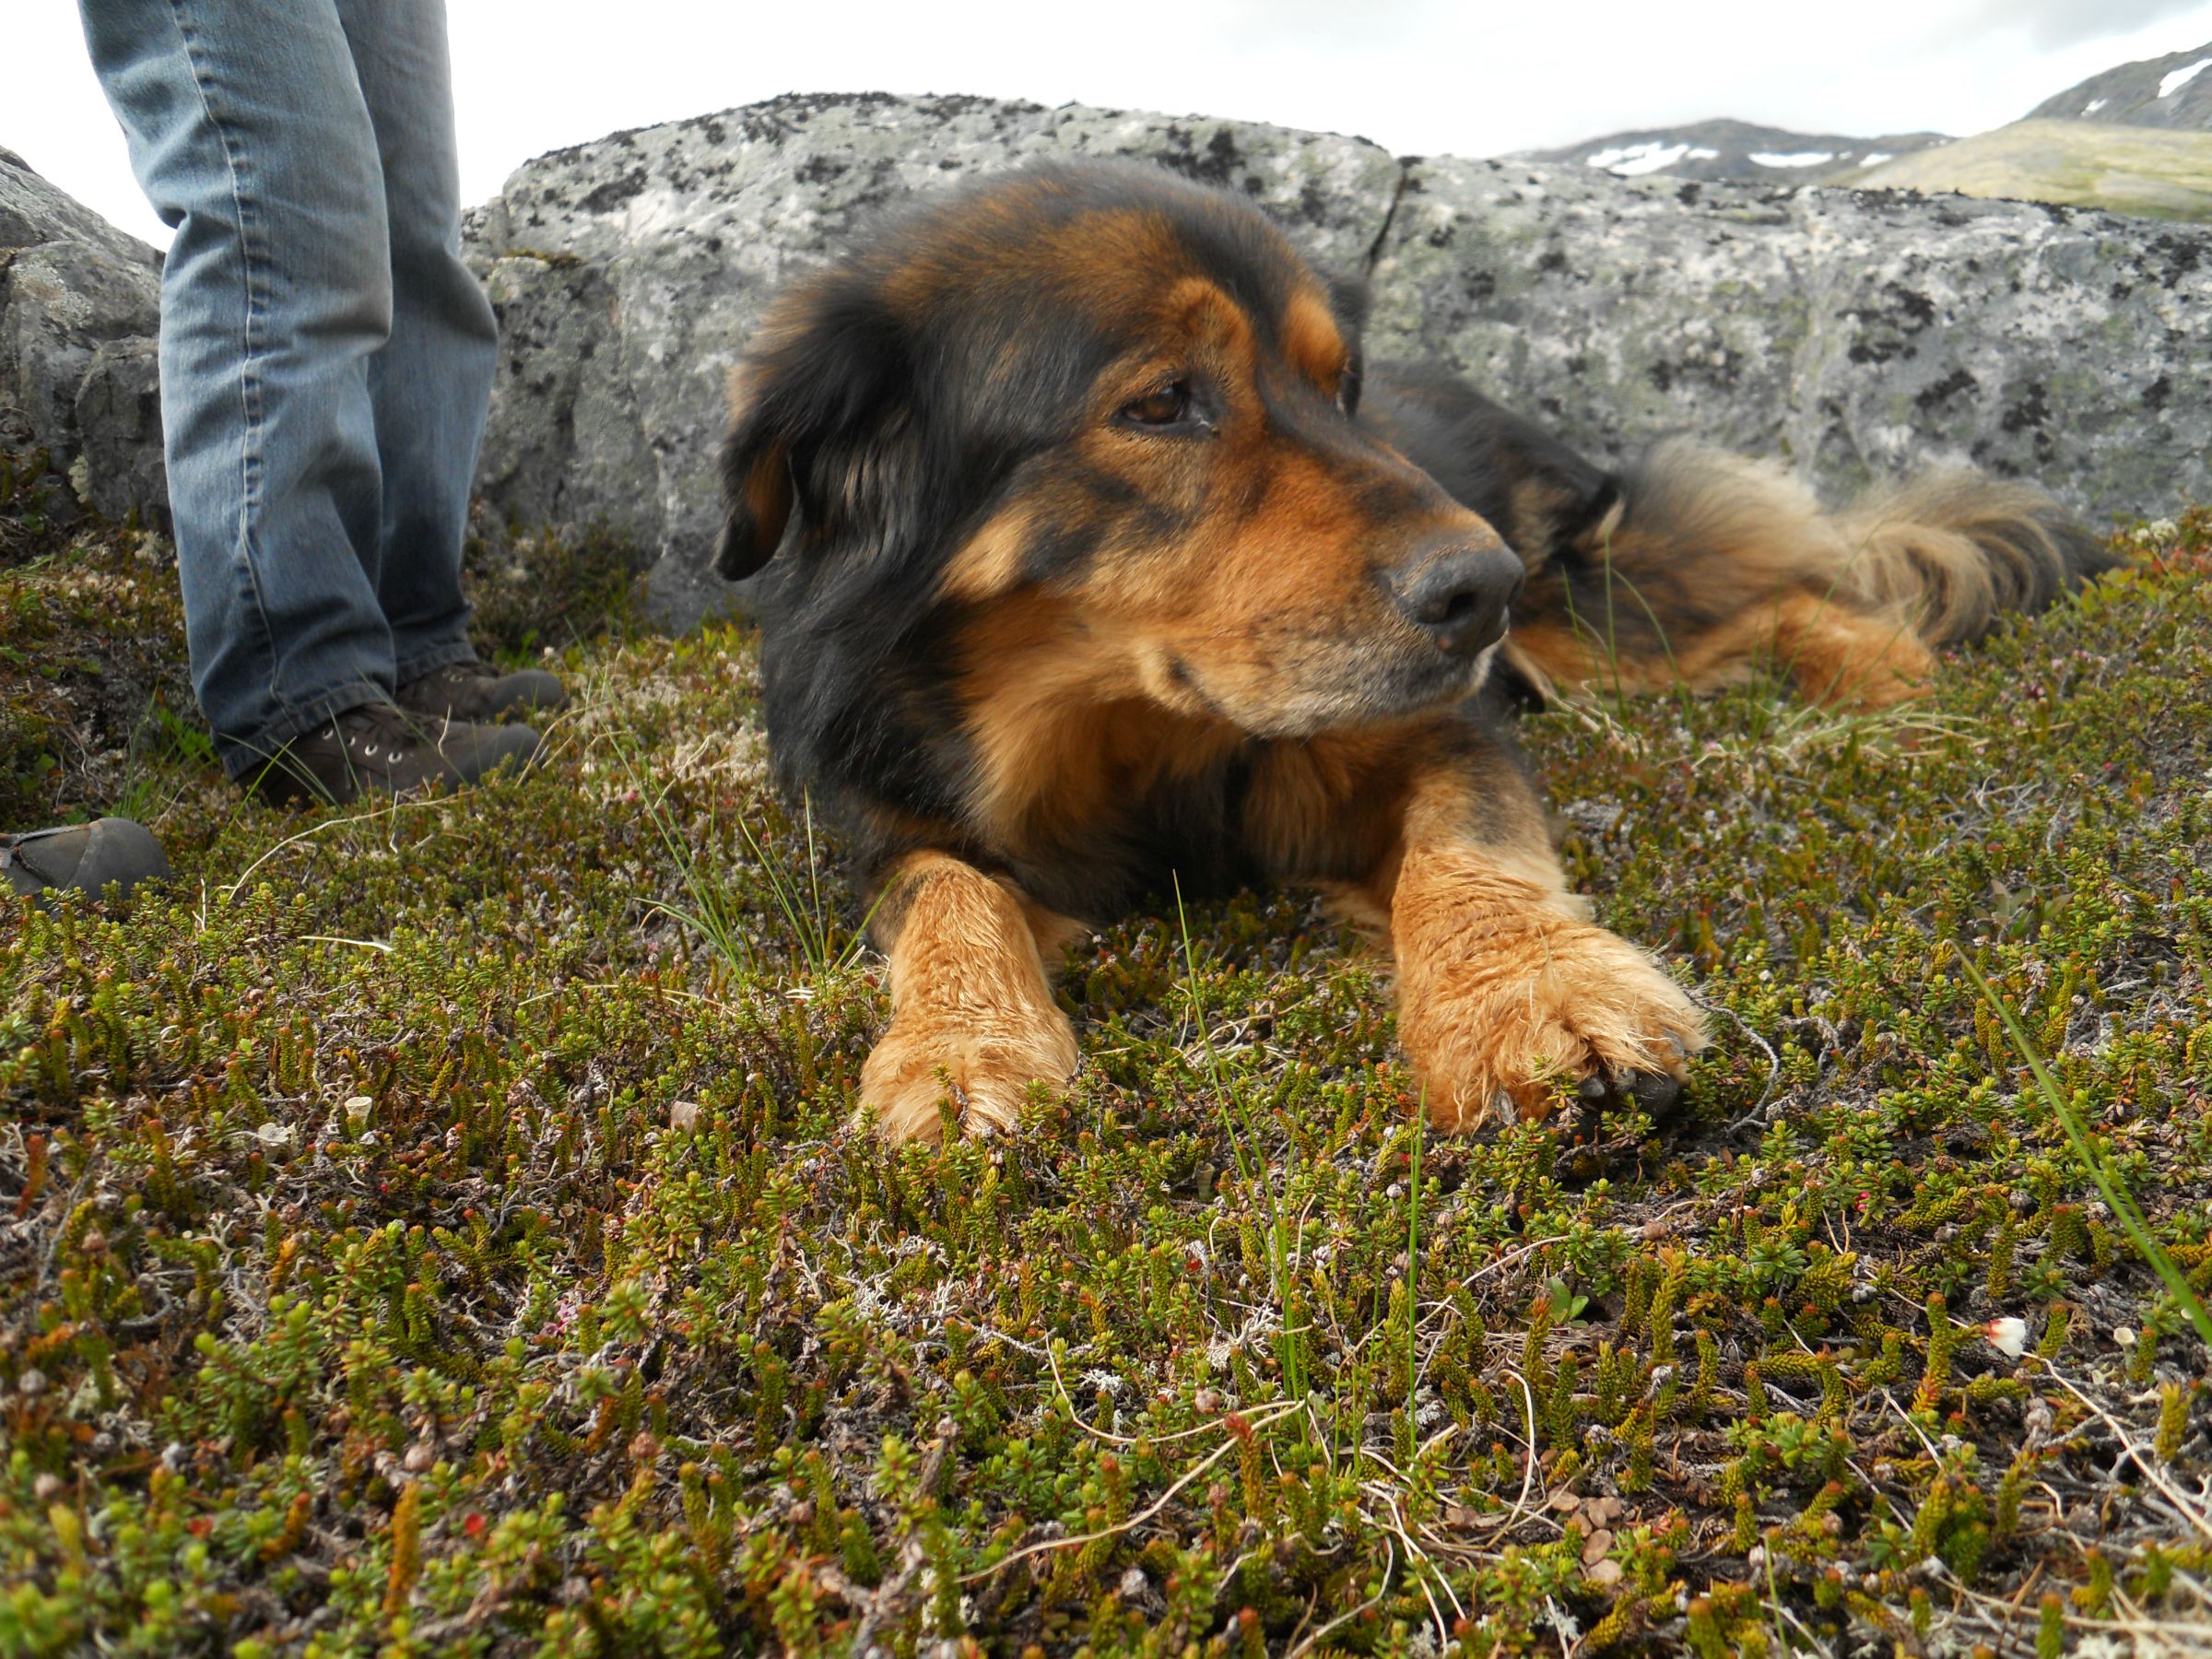
[[[1867,190],[1955,190],[2152,219],[2212,219],[2212,133],[2106,122],[2013,122],[1867,170]]]

